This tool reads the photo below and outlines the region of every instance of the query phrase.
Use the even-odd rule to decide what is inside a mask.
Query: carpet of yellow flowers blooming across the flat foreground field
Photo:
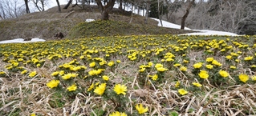
[[[163,83],[171,84],[178,94],[188,96],[193,92],[189,87],[201,89],[209,83],[218,86],[224,83],[221,81],[228,81],[226,83],[230,85],[256,82],[255,74],[249,73],[256,71],[254,42],[226,37],[201,38],[205,37],[132,35],[28,43],[25,46],[1,44],[3,66],[0,74],[30,79],[52,78],[46,83],[51,89],[62,89],[71,94],[82,90],[101,97],[108,94],[108,90],[114,91],[115,95],[128,96],[127,83],[113,84],[112,78],[116,76],[124,76],[122,81],[126,82],[139,75],[137,79],[146,78],[142,86],[149,83],[160,88]],[[242,38],[247,40],[248,37]],[[137,104],[136,110],[144,114],[148,107]],[[116,111],[111,115],[126,114]]]

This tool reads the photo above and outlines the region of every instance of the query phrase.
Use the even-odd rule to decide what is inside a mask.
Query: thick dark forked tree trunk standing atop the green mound
[[[95,0],[97,5],[100,7],[101,10],[101,20],[108,20],[109,19],[109,12],[112,10],[113,6],[115,5],[116,0],[109,0],[107,5],[103,6],[101,0]]]

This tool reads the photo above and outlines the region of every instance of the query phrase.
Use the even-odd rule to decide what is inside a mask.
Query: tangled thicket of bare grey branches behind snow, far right
[[[221,30],[240,33],[242,26],[247,26],[256,16],[252,0],[215,0],[197,2],[191,8],[187,23],[193,29]],[[251,22],[256,24],[256,22]],[[254,26],[250,24],[251,26]]]

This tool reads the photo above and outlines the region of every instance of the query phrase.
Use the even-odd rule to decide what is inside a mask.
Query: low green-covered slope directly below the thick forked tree
[[[184,34],[188,30],[175,30],[158,26],[130,24],[122,21],[81,22],[69,32],[70,38],[91,38],[97,36],[124,36],[138,34]]]

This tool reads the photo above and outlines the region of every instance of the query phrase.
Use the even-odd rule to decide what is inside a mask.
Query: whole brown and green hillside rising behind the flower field
[[[63,7],[63,6],[62,6]],[[91,7],[91,9],[90,9]],[[0,41],[13,38],[52,39],[55,33],[63,32],[66,38],[83,38],[94,36],[131,35],[131,34],[184,34],[189,30],[175,30],[158,27],[157,22],[148,18],[144,25],[144,17],[131,12],[113,9],[110,24],[95,25],[97,22],[86,22],[86,19],[100,20],[97,6],[86,6],[83,10],[78,6],[69,7],[58,13],[57,6],[43,11],[22,15],[19,18],[0,21]],[[106,29],[108,26],[108,29]],[[91,28],[93,27],[93,28]],[[79,30],[77,30],[79,28]],[[104,32],[104,33],[103,33]]]

